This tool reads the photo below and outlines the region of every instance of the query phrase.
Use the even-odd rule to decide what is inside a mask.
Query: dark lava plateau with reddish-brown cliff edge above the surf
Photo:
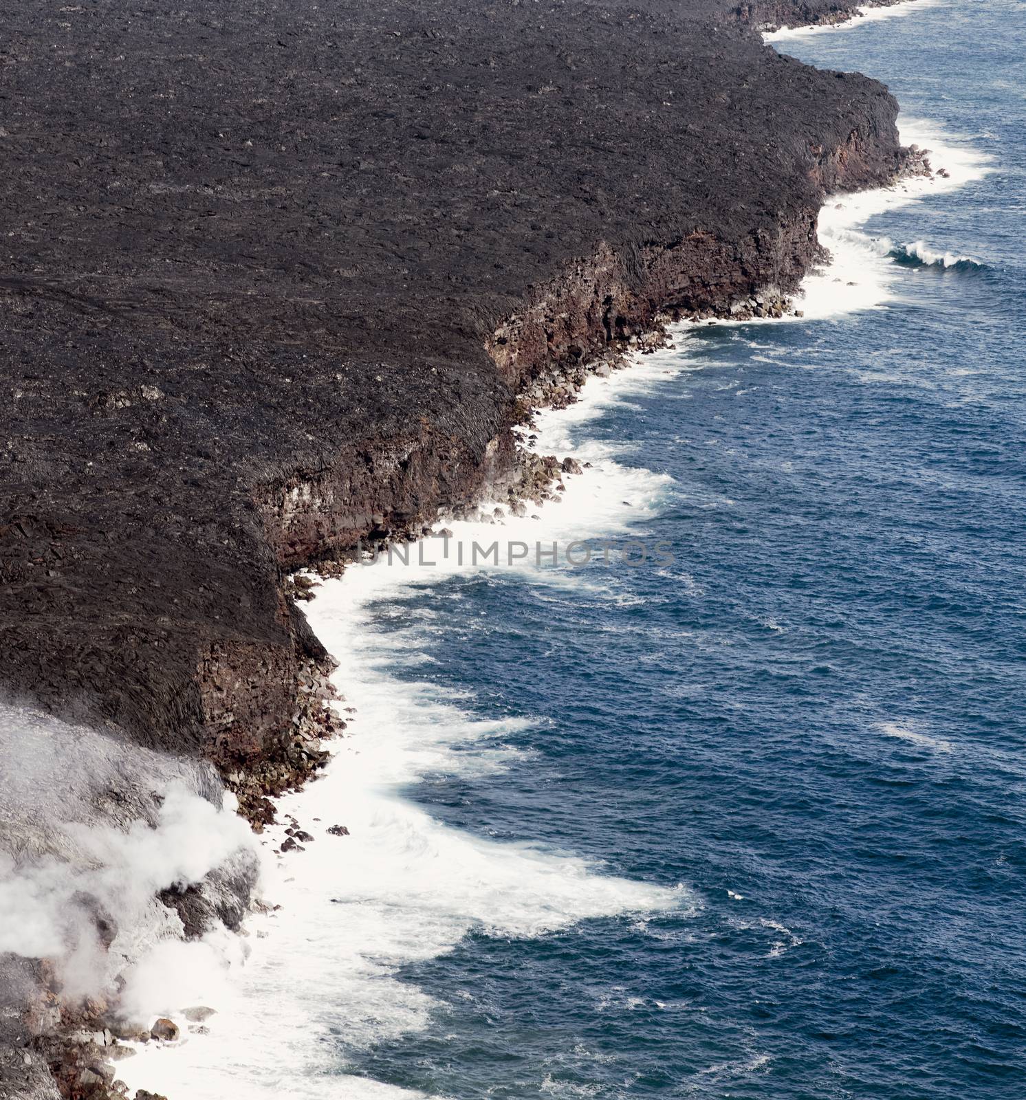
[[[787,294],[899,170],[885,88],[753,30],[844,10],[2,0],[7,694],[291,760],[291,570],[515,487],[535,380]]]

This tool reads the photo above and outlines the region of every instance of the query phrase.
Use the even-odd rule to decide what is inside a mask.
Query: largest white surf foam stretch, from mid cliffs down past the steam
[[[184,1030],[179,1044],[139,1047],[119,1065],[130,1089],[194,1100],[243,1093],[410,1100],[418,1093],[346,1072],[353,1052],[423,1030],[441,1008],[399,980],[397,967],[449,952],[470,932],[536,937],[590,919],[691,904],[683,888],[603,873],[527,840],[474,836],[411,801],[405,792],[425,777],[473,777],[517,763],[521,750],[507,741],[531,722],[476,717],[466,693],[399,678],[396,654],[408,674],[446,627],[432,616],[405,629],[384,628],[380,619],[390,602],[457,573],[514,568],[535,582],[564,575],[580,583],[531,560],[471,564],[468,554],[460,564],[454,548],[500,536],[552,541],[633,530],[654,514],[668,479],[621,466],[614,449],[581,440],[580,430],[686,369],[679,355],[637,356],[631,371],[589,380],[576,405],[538,415],[542,452],[592,463],[587,476],[566,479],[561,499],[539,508],[539,519],[452,524],[447,557],[438,553],[443,540],[424,540],[423,561],[416,553],[408,565],[381,557],[317,590],[310,624],[341,661],[336,679],[356,714],[324,777],[280,802],[282,818],[294,815],[315,840],[280,862],[269,898],[281,911],[247,922],[252,949],[212,1005],[209,1034]],[[327,835],[335,824],[349,835]],[[269,845],[281,844],[283,829],[268,829]]]

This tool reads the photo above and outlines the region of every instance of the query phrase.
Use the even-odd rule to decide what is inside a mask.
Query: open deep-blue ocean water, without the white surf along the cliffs
[[[527,719],[510,767],[439,766],[413,803],[688,902],[471,928],[395,971],[429,1022],[350,1072],[458,1100],[1026,1096],[1026,6],[779,48],[993,157],[865,228],[974,262],[898,250],[885,309],[692,333],[581,426],[667,475],[635,532],[673,565],[374,605],[428,653],[397,684]]]

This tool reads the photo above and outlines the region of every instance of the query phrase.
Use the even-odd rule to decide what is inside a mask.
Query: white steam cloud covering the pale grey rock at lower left
[[[121,1010],[142,1021],[238,954],[223,930],[184,943],[156,897],[215,869],[253,877],[255,839],[211,801],[208,769],[7,704],[0,767],[0,961],[48,959],[68,1001],[120,979]]]

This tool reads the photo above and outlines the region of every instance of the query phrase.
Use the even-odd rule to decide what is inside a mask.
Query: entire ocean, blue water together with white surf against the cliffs
[[[317,590],[353,713],[282,803],[315,840],[132,1087],[1026,1096],[1026,4],[875,14],[775,45],[884,80],[949,176],[831,200],[803,319],[543,413],[590,466],[541,518]]]

